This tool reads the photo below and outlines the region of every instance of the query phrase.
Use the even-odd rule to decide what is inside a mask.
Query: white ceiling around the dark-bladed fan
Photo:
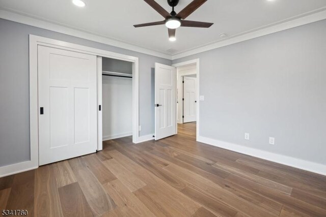
[[[143,0],[85,0],[78,8],[71,0],[0,0],[3,10],[28,15],[84,32],[166,54],[180,53],[326,7],[325,0],[208,0],[187,20],[213,22],[210,28],[180,27],[177,41],[168,40],[165,25],[134,28],[133,24],[164,20]],[[167,0],[156,0],[171,11]],[[192,0],[180,0],[178,13]],[[225,40],[225,39],[224,39]]]

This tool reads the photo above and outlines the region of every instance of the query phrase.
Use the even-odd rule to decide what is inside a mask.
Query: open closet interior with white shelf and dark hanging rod
[[[132,135],[132,63],[102,57],[102,139]]]

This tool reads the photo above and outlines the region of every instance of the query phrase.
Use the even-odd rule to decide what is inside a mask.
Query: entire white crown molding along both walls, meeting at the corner
[[[83,29],[76,30],[72,27],[63,26],[62,24],[55,24],[55,23],[52,23],[49,21],[41,20],[41,18],[32,18],[32,15],[21,15],[21,14],[18,14],[19,12],[12,11],[12,10],[11,10],[12,11],[11,12],[8,10],[10,10],[10,9],[5,9],[5,8],[0,7],[0,18],[11,20],[14,22],[23,23],[26,25],[36,26],[36,27],[51,30],[51,31],[57,32],[57,33],[62,33],[62,34],[66,34],[66,35],[70,35],[70,36],[74,36],[74,37],[78,37],[78,38],[83,38],[83,39],[87,39],[87,40],[91,40],[91,41],[95,41],[95,42],[99,42],[99,43],[103,43],[103,44],[107,44],[107,45],[111,45],[111,46],[115,46],[115,47],[120,47],[123,49],[128,49],[128,50],[132,50],[132,51],[136,51],[136,52],[140,52],[140,53],[145,53],[148,55],[166,58],[166,59],[170,59],[170,60],[175,60],[175,59],[182,58],[185,56],[194,55],[194,54],[201,53],[204,51],[224,47],[224,46],[235,44],[235,43],[242,42],[242,41],[247,41],[250,39],[258,38],[258,37],[269,35],[272,33],[277,33],[277,32],[280,32],[282,30],[286,30],[289,28],[294,28],[297,26],[301,26],[301,25],[305,25],[308,23],[326,19],[326,8],[324,7],[324,8],[320,8],[320,9],[317,9],[317,10],[314,10],[314,11],[311,11],[308,13],[304,13],[304,14],[301,14],[301,15],[298,15],[295,17],[291,17],[289,19],[281,20],[276,23],[272,23],[272,24],[269,24],[266,26],[252,29],[250,31],[232,36],[227,39],[218,40],[213,43],[202,45],[197,48],[192,48],[189,50],[180,51],[180,52],[177,52],[177,53],[174,53],[173,55],[171,55],[171,54],[167,54],[167,53],[162,53],[160,51],[143,48],[143,47],[140,47],[137,45],[132,45],[132,44],[129,44],[126,42],[121,42],[118,40],[110,39],[110,38],[107,38],[104,36],[94,35],[92,33],[88,33],[86,30],[83,30]]]

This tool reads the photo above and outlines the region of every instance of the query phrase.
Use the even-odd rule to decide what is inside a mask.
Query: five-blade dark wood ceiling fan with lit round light
[[[202,27],[202,28],[209,28],[214,23],[208,22],[198,22],[198,21],[190,21],[184,20],[194,11],[196,11],[201,5],[203,5],[207,0],[194,0],[189,5],[187,5],[183,10],[179,13],[174,11],[174,7],[176,7],[179,3],[179,0],[168,0],[168,4],[172,7],[172,12],[167,12],[164,8],[158,5],[154,0],[144,0],[148,5],[150,5],[155,11],[157,11],[160,15],[162,15],[165,20],[158,21],[158,22],[150,22],[150,23],[143,23],[138,25],[133,25],[134,27],[144,27],[144,26],[151,26],[151,25],[162,25],[165,24],[169,29],[169,40],[175,41],[175,30],[180,26],[184,27]]]

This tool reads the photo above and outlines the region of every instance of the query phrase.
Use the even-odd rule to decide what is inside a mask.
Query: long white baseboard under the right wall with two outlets
[[[197,137],[198,142],[206,143],[216,147],[232,150],[235,152],[248,154],[250,156],[261,158],[267,161],[272,161],[279,164],[284,164],[290,167],[307,170],[310,172],[318,173],[321,175],[326,175],[326,165],[314,163],[311,161],[306,161],[302,159],[297,159],[289,156],[284,156],[278,153],[272,153],[269,151],[263,151],[256,148],[250,148],[243,145],[233,144],[229,142],[219,141],[203,136]]]

